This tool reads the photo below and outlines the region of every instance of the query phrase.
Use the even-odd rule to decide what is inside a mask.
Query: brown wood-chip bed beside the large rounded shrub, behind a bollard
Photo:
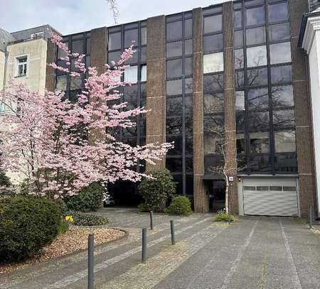
[[[26,267],[32,263],[47,261],[60,256],[87,249],[87,235],[95,234],[95,245],[107,243],[122,238],[126,233],[117,229],[104,227],[70,227],[65,234],[58,235],[41,253],[25,261],[12,264],[0,264],[0,274],[10,273],[17,268]]]

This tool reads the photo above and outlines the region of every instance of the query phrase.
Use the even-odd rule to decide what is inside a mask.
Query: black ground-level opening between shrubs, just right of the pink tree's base
[[[108,191],[114,198],[115,206],[137,207],[142,203],[142,197],[137,193],[137,183],[118,181],[110,184]]]

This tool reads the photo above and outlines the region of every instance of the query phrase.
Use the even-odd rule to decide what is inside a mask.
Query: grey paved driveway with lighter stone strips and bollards
[[[304,221],[240,217],[231,227],[210,214],[155,215],[148,231],[148,262],[140,263],[141,228],[149,215],[132,209],[103,209],[111,227],[129,237],[95,251],[96,288],[320,288],[320,234]],[[175,219],[177,244],[170,244]],[[87,254],[41,263],[0,276],[0,288],[87,288]]]

